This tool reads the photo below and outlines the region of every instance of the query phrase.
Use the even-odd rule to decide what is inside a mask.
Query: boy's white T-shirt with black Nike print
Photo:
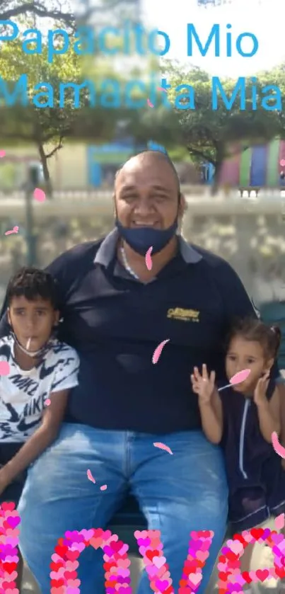
[[[13,336],[5,336],[1,361],[8,362],[10,372],[0,377],[0,442],[25,442],[40,426],[50,394],[78,385],[79,358],[69,345],[54,340],[40,364],[24,371],[14,358]]]

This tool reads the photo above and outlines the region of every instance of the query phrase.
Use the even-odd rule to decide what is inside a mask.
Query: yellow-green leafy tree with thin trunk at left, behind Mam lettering
[[[64,139],[82,138],[84,129],[88,130],[89,134],[93,134],[93,138],[106,139],[112,135],[115,115],[111,118],[103,118],[102,108],[94,109],[91,113],[91,108],[88,107],[88,86],[81,89],[77,107],[72,87],[64,92],[64,105],[60,103],[57,90],[62,82],[81,84],[84,80],[80,56],[72,49],[69,49],[64,56],[55,56],[52,64],[49,64],[46,46],[42,47],[41,54],[27,55],[23,54],[21,43],[16,40],[4,45],[0,53],[0,72],[1,78],[7,83],[6,99],[9,94],[8,88],[11,94],[15,92],[15,85],[23,73],[27,76],[29,98],[28,105],[21,105],[18,101],[9,106],[7,101],[2,100],[0,137],[18,140],[22,144],[32,142],[36,145],[42,162],[47,192],[51,193],[47,161],[62,148]],[[35,93],[35,86],[40,83],[41,87],[37,88]],[[30,102],[32,98],[35,101],[35,94],[37,94],[36,105]],[[50,106],[49,101],[52,98],[53,105]]]

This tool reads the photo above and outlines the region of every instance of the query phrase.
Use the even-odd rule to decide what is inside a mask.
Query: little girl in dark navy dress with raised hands
[[[258,319],[240,320],[228,340],[226,376],[230,380],[250,369],[248,378],[218,392],[215,372],[208,374],[206,365],[202,375],[197,367],[191,375],[204,433],[212,443],[221,443],[225,453],[233,534],[285,512],[285,472],[272,447],[272,433],[281,431],[280,395],[278,385],[273,391],[269,386],[280,341],[276,326],[269,328]],[[250,571],[252,549],[252,544],[246,547],[241,571]],[[252,592],[250,586],[245,588]],[[285,581],[279,592],[285,593]]]

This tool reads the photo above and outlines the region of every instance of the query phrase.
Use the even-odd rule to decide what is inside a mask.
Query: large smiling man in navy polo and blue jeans
[[[21,548],[42,594],[50,593],[57,539],[66,530],[105,528],[132,491],[149,528],[161,531],[175,592],[190,532],[214,530],[202,594],[226,531],[228,493],[221,451],[201,430],[190,373],[205,362],[223,377],[231,318],[253,314],[252,305],[228,263],[178,234],[185,199],[167,156],[147,151],[129,159],[114,198],[114,231],[50,265],[61,338],[77,349],[81,367],[61,435],[29,471]],[[81,594],[104,593],[102,552],[88,547],[77,571]],[[145,572],[138,591],[151,593]]]

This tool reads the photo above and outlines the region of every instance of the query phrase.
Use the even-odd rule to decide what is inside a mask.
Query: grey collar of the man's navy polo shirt
[[[116,246],[117,241],[120,237],[120,234],[117,229],[113,229],[106,237],[103,239],[98,252],[95,255],[94,263],[101,264],[103,266],[108,266],[113,258],[115,258],[116,254]],[[185,261],[186,264],[197,264],[200,260],[202,260],[202,256],[199,252],[197,252],[190,244],[183,239],[181,235],[178,235],[179,247],[180,247],[180,254]]]

